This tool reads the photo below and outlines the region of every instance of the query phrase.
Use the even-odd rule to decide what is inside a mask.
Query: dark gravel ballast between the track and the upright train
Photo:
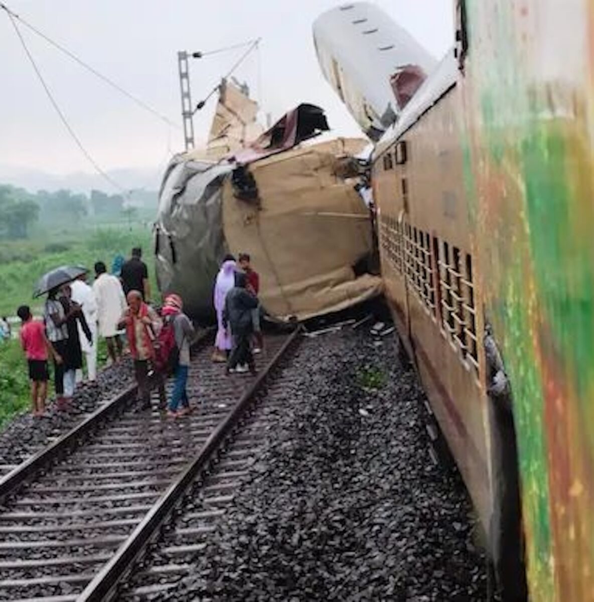
[[[161,600],[486,599],[457,476],[427,453],[419,389],[391,337],[303,342],[298,374],[193,576]]]

